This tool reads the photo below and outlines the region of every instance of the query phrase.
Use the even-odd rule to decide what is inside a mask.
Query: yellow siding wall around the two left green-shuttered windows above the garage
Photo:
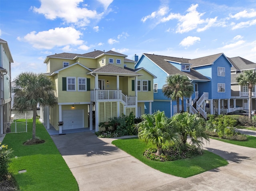
[[[90,91],[79,92],[78,77],[90,78],[90,89],[94,89],[94,77],[86,75],[89,71],[80,65],[64,69],[58,74],[58,102],[90,102]],[[76,77],[76,91],[62,91],[62,77]]]

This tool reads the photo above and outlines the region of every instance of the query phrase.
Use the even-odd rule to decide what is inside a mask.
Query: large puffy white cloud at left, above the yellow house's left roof
[[[66,45],[81,45],[81,32],[74,28],[55,28],[48,31],[28,33],[24,37],[17,37],[19,41],[26,41],[37,49],[52,49]]]

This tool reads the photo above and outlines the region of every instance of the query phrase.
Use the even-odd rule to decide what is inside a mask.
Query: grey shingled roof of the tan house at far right
[[[233,57],[229,58],[229,60],[232,62],[233,67],[231,67],[232,70],[250,70],[256,68],[256,63],[246,60],[242,57]]]

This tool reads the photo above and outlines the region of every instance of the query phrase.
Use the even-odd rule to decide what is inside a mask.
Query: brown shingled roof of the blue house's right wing
[[[214,55],[210,55],[210,56],[191,59],[191,60],[189,60],[189,63],[192,64],[192,66],[191,66],[192,68],[198,67],[198,66],[204,66],[204,65],[212,65],[214,63],[214,61],[216,61],[221,55],[224,55],[224,54],[218,53],[218,54],[214,54]]]

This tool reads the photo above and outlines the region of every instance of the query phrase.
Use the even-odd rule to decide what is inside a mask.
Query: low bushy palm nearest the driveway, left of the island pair
[[[162,154],[162,145],[166,142],[176,141],[178,136],[172,131],[168,124],[168,118],[164,111],[159,110],[154,114],[141,116],[142,122],[138,124],[138,138],[144,142],[152,143],[157,147],[157,155]]]

